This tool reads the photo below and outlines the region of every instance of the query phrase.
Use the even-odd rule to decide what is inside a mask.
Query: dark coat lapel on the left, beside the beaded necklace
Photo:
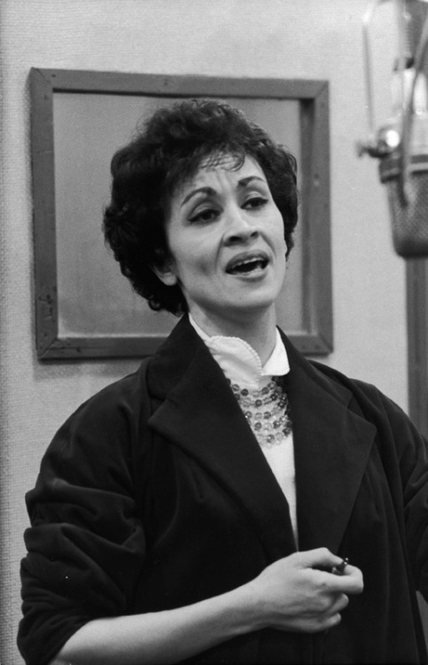
[[[269,560],[295,551],[287,501],[206,345],[186,319],[154,357],[149,425],[185,450],[246,513]]]

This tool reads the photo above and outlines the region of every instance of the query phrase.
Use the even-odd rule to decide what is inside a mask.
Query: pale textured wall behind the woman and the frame
[[[0,661],[19,665],[19,559],[25,491],[58,425],[136,362],[39,364],[35,358],[28,70],[31,66],[165,74],[319,78],[331,82],[335,350],[327,362],[407,408],[404,264],[390,240],[365,137],[366,0],[1,0]],[[389,19],[388,11],[384,16]],[[392,32],[374,30],[377,112],[389,108]]]

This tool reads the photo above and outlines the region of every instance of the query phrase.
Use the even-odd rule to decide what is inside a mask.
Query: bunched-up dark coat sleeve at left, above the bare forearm
[[[123,379],[83,404],[58,430],[27,493],[18,636],[27,665],[49,662],[84,623],[129,613],[145,549],[134,496],[136,393]]]

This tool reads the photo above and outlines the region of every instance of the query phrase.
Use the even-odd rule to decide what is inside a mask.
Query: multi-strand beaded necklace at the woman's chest
[[[292,431],[290,403],[284,384],[284,377],[274,376],[267,386],[249,390],[230,381],[237,403],[262,447],[271,448],[284,442]]]

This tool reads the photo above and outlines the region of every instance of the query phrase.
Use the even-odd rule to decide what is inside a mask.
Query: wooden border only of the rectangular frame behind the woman
[[[329,87],[325,81],[234,79],[32,69],[31,150],[35,219],[36,347],[41,360],[138,357],[151,354],[165,333],[68,334],[61,330],[58,278],[58,131],[55,100],[67,95],[146,99],[215,97],[225,100],[294,100],[300,125],[301,324],[287,330],[307,355],[332,350]],[[133,128],[129,128],[131,130]],[[120,145],[116,145],[119,147]],[[113,154],[113,153],[112,153]],[[57,165],[58,166],[58,165]],[[62,194],[67,196],[67,190]],[[68,219],[67,224],[72,220]],[[97,221],[98,223],[98,221]],[[294,252],[295,250],[293,250]],[[293,253],[292,253],[293,254]],[[113,261],[113,260],[112,260]],[[87,270],[94,270],[89,265]],[[122,278],[123,279],[123,278]],[[82,298],[85,297],[84,289]],[[284,326],[283,326],[284,327]]]

